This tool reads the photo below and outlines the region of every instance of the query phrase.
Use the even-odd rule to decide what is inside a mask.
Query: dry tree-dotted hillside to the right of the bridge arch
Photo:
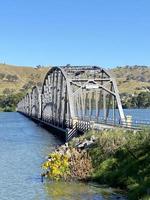
[[[117,80],[120,93],[134,94],[150,91],[150,67],[124,66],[111,70]]]

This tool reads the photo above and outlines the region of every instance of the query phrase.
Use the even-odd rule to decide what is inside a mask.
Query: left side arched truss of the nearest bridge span
[[[70,82],[60,67],[51,68],[45,76],[41,94],[41,118],[56,126],[65,127],[74,117]]]

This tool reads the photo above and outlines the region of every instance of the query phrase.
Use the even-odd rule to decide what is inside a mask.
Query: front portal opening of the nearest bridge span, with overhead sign
[[[125,121],[115,79],[97,66],[64,67],[67,74],[72,108],[78,120],[95,122]]]

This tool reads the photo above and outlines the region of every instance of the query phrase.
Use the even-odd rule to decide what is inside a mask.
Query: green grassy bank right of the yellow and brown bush
[[[94,166],[93,180],[128,189],[132,200],[150,198],[149,129],[100,133],[89,153]]]

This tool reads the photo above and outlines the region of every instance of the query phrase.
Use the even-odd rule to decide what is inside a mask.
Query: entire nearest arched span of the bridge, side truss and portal
[[[41,104],[42,120],[57,126],[74,119],[115,123],[117,116],[125,121],[115,79],[97,66],[51,68],[44,79]]]

